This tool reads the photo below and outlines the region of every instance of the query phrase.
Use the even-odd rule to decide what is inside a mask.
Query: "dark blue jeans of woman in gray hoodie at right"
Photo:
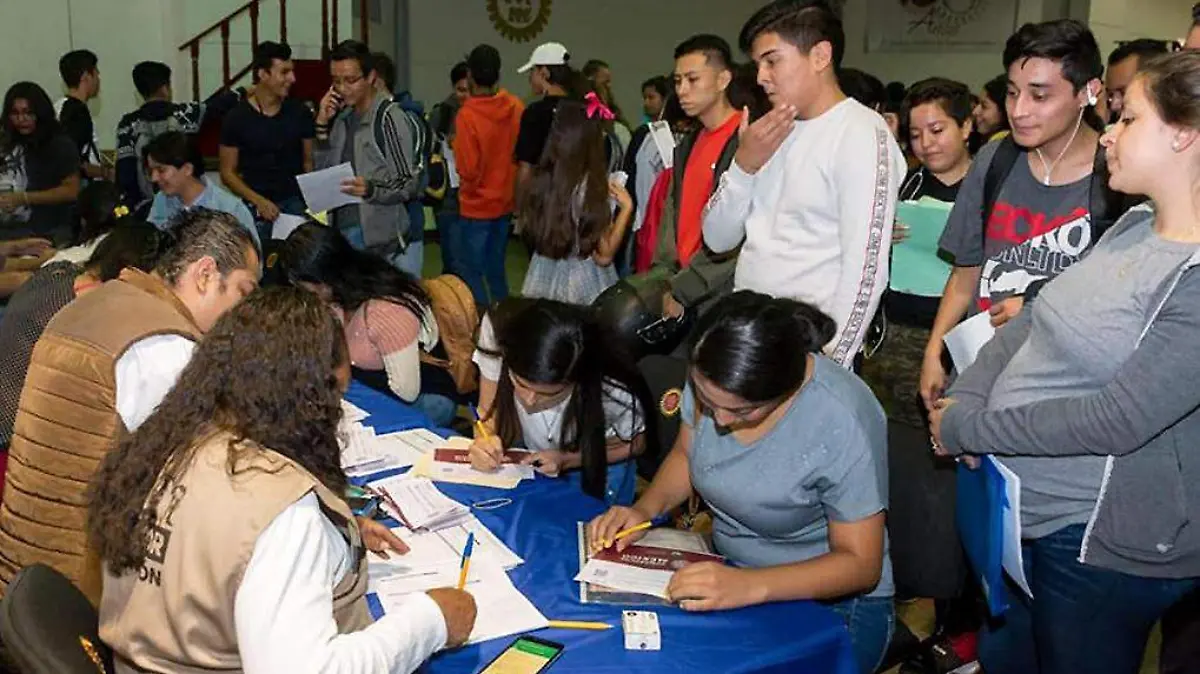
[[[1025,541],[1036,598],[1009,583],[1009,609],[980,634],[988,674],[1135,674],[1154,622],[1196,579],[1142,578],[1079,562],[1084,525]]]

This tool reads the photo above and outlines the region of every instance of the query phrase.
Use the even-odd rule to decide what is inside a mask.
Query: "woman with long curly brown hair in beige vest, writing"
[[[348,381],[325,305],[262,290],[217,321],[108,455],[88,524],[106,570],[100,631],[119,668],[401,674],[467,640],[475,602],[460,590],[371,619],[364,548],[408,548],[343,499]]]

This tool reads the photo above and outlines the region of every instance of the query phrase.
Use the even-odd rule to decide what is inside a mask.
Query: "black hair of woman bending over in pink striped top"
[[[329,287],[334,301],[347,313],[367,300],[397,303],[425,320],[430,295],[412,276],[372,253],[355,251],[332,227],[306,222],[280,248],[278,264],[289,283]]]

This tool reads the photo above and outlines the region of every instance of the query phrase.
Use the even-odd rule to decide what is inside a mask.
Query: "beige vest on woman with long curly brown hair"
[[[168,486],[157,508],[146,561],[138,571],[104,574],[100,637],[118,672],[240,672],[234,600],[258,536],[310,491],[350,544],[354,566],[334,588],[338,632],[371,624],[365,598],[366,549],[349,506],[295,462],[218,432],[202,440],[192,462]]]

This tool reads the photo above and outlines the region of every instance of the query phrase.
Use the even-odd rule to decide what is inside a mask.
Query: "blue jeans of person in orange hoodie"
[[[510,216],[496,219],[460,217],[449,228],[448,240],[442,242],[452,248],[457,276],[470,287],[478,305],[488,306],[509,296],[504,260],[511,228]]]

